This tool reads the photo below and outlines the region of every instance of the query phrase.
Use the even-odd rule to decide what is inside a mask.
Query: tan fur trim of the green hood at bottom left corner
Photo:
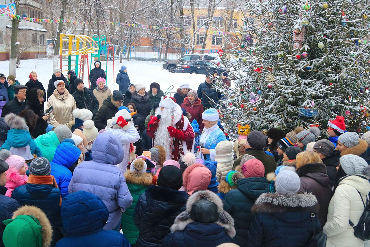
[[[41,238],[42,238],[42,246],[48,247],[51,244],[51,238],[53,236],[53,230],[50,225],[50,221],[46,217],[46,214],[41,211],[40,208],[35,206],[28,206],[24,205],[20,208],[18,208],[13,213],[12,219],[15,219],[19,215],[32,215],[34,218],[36,218],[41,225]]]

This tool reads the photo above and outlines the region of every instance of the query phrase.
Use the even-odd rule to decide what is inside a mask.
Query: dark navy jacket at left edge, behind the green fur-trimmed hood
[[[0,247],[4,246],[3,231],[5,225],[3,220],[11,219],[13,212],[20,207],[19,202],[5,195],[7,190],[6,187],[0,186]]]

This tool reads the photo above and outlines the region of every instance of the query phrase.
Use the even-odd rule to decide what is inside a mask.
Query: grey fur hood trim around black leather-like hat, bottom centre
[[[226,233],[233,238],[235,236],[234,219],[229,213],[223,210],[223,204],[218,195],[206,190],[195,192],[191,197],[189,197],[186,202],[186,210],[176,217],[174,224],[170,228],[171,232],[183,231],[188,224],[194,222],[190,216],[191,208],[195,202],[201,199],[211,201],[217,205],[218,221],[215,223],[224,227]]]

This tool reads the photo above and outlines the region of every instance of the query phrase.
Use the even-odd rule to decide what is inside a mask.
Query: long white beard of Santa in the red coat
[[[164,150],[166,151],[166,160],[171,159],[171,149],[169,145],[169,140],[171,139],[171,136],[168,133],[167,127],[171,125],[171,110],[170,109],[163,109],[161,111],[161,108],[158,108],[157,111],[155,111],[155,116],[161,115],[161,119],[158,123],[158,128],[155,131],[155,138],[154,138],[154,145],[160,145],[164,147]]]

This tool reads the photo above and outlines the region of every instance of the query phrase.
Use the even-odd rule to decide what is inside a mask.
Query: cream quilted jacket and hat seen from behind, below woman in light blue
[[[232,169],[234,164],[233,159],[233,144],[230,141],[221,141],[216,146],[215,161],[217,161],[217,181],[224,178]]]

